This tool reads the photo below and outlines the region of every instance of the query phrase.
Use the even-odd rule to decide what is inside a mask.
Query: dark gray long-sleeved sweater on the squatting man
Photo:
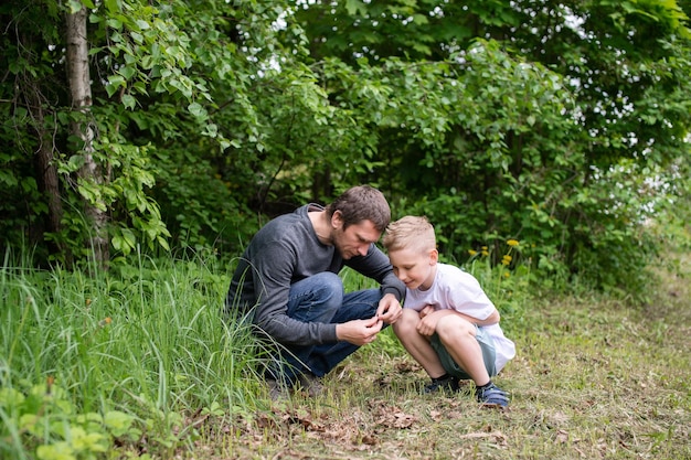
[[[308,211],[323,207],[307,204],[294,213],[268,222],[245,249],[225,301],[227,312],[255,307],[253,321],[264,332],[286,345],[336,342],[336,324],[302,322],[287,315],[290,285],[307,277],[349,266],[381,285],[382,296],[405,296],[393,274],[389,257],[374,244],[366,256],[343,260],[333,246],[319,242]]]

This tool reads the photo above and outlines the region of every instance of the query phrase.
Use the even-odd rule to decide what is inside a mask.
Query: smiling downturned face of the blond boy
[[[389,252],[393,272],[408,289],[427,290],[432,287],[436,274],[439,254],[436,249],[397,249]]]

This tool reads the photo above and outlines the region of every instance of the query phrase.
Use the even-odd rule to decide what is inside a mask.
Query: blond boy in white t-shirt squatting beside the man
[[[386,228],[383,245],[394,274],[406,286],[403,314],[393,330],[432,378],[425,393],[458,389],[472,379],[479,403],[507,407],[508,395],[491,377],[515,355],[499,327],[499,311],[477,279],[438,261],[434,227],[406,216]]]

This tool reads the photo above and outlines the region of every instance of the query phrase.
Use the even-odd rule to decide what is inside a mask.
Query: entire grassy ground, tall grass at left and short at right
[[[223,321],[230,274],[210,260],[95,278],[6,263],[0,458],[691,459],[688,258],[645,307],[531,296],[476,268],[517,342],[496,378],[506,411],[479,408],[470,386],[421,396],[426,376],[391,330],[327,377],[326,396],[272,404],[262,347]]]

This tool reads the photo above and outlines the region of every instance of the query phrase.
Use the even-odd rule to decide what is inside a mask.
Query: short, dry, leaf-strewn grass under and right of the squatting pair
[[[469,395],[418,396],[423,371],[376,345],[327,379],[208,434],[195,458],[691,459],[691,304],[687,276],[645,309],[597,299],[542,299],[496,379],[506,411]],[[385,339],[385,338],[384,338]]]

